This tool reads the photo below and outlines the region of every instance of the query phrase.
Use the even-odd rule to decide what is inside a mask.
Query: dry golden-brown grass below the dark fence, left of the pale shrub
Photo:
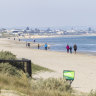
[[[21,72],[21,77],[8,76],[0,73],[0,88],[29,94],[30,83],[26,74],[23,72]]]

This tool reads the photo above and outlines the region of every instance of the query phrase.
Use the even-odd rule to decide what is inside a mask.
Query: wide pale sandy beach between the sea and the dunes
[[[88,54],[67,54],[26,48],[25,42],[0,38],[0,51],[11,51],[18,58],[31,59],[34,64],[52,69],[54,72],[43,72],[34,77],[63,78],[63,70],[74,70],[75,80],[72,87],[82,92],[96,89],[96,56]]]

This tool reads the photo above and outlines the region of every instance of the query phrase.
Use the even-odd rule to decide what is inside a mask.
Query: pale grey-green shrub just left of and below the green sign
[[[35,85],[34,85],[35,84]],[[48,78],[46,80],[40,79],[32,82],[32,88],[45,90],[58,90],[60,92],[72,92],[71,86],[62,78]]]

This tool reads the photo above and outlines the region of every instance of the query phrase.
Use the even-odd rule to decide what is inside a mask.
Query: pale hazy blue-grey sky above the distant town
[[[96,26],[96,0],[0,0],[0,27]]]

